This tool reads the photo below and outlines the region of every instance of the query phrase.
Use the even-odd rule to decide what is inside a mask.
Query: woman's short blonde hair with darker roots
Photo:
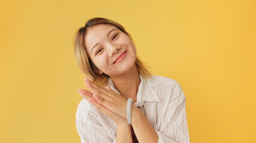
[[[79,66],[79,69],[82,71],[83,74],[85,74],[85,76],[88,79],[96,82],[98,85],[103,86],[107,84],[107,79],[109,79],[109,76],[105,73],[99,74],[95,72],[96,66],[94,65],[94,63],[92,63],[92,60],[89,57],[88,51],[85,46],[86,30],[88,29],[88,27],[92,27],[97,24],[110,24],[112,26],[117,27],[122,32],[124,32],[125,35],[127,35],[131,39],[131,41],[132,41],[132,38],[131,38],[131,35],[129,35],[129,33],[125,30],[125,28],[121,24],[116,23],[115,21],[109,20],[107,18],[100,18],[100,17],[92,18],[91,20],[87,21],[87,23],[85,24],[85,27],[81,27],[80,29],[77,29],[77,32],[74,34],[73,43],[74,43],[74,52],[76,56],[76,61]],[[151,73],[149,72],[149,70],[146,69],[146,66],[140,59],[138,59],[138,57],[136,58],[135,64],[141,76],[146,78],[151,77]]]

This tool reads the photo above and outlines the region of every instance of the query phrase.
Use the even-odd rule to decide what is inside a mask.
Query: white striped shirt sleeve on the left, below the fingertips
[[[80,102],[76,113],[76,128],[81,138],[81,142],[115,142],[112,138],[110,138],[106,129],[104,129],[103,125],[101,125],[100,122],[97,122],[97,119],[94,119],[93,116],[88,116],[88,114],[86,114],[87,110],[84,104],[88,103]]]

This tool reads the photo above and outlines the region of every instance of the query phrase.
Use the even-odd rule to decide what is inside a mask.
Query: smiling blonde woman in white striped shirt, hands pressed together
[[[74,46],[89,89],[78,90],[85,98],[76,113],[82,142],[189,142],[182,89],[151,76],[121,24],[92,18]]]

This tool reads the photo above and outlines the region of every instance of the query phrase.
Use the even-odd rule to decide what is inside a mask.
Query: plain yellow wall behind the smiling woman
[[[72,42],[92,17],[121,23],[150,71],[180,83],[191,142],[256,142],[254,0],[0,5],[0,142],[80,142]]]

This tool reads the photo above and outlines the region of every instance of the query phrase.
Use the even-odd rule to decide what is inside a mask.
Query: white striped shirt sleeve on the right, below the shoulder
[[[176,83],[171,94],[174,97],[169,101],[167,111],[164,114],[162,123],[164,123],[158,133],[158,142],[189,142],[188,126],[186,123],[186,98],[180,88],[179,83]]]

